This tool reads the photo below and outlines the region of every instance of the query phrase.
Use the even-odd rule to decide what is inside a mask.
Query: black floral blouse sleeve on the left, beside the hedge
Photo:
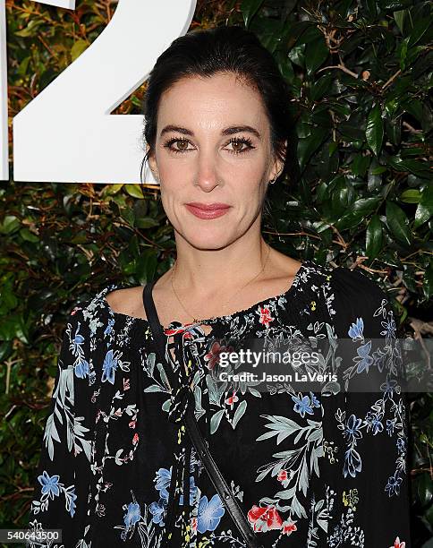
[[[90,484],[89,324],[76,306],[66,323],[34,481],[29,529],[62,529],[65,548],[84,534]],[[29,542],[27,546],[55,546]]]

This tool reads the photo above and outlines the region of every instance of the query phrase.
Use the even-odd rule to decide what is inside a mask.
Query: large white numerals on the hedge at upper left
[[[72,0],[45,4],[74,8]],[[13,179],[138,183],[143,116],[110,113],[146,80],[170,43],[189,29],[196,0],[119,0],[106,29],[13,118]],[[0,0],[0,178],[7,168],[4,0]],[[182,107],[182,106],[180,106]],[[155,183],[151,172],[149,183]]]

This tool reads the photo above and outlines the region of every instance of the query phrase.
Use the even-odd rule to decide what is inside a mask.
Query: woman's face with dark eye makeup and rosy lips
[[[271,150],[259,92],[233,73],[185,78],[166,90],[149,166],[174,230],[199,249],[222,248],[252,226],[259,230],[267,182],[283,168]],[[228,208],[212,216],[191,202]]]

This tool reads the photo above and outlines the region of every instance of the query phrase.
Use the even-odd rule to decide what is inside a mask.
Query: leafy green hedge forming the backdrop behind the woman
[[[6,0],[11,138],[12,117],[114,10],[109,1],[72,11]],[[433,332],[431,10],[412,0],[201,1],[191,24],[247,26],[290,84],[301,177],[269,189],[269,244],[363,269],[390,295],[401,330],[424,338]],[[140,114],[144,89],[114,113]],[[10,151],[12,162],[12,142]],[[2,527],[27,524],[66,314],[111,281],[144,284],[173,264],[174,234],[157,198],[139,184],[12,175],[0,185]],[[422,546],[433,537],[433,397],[410,396],[412,540]]]

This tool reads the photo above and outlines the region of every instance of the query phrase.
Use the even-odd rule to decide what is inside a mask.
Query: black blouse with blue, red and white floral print
[[[191,446],[149,322],[106,301],[122,287],[76,305],[65,327],[29,519],[63,542],[27,545],[246,547]],[[411,548],[409,407],[395,316],[375,282],[304,261],[283,294],[165,332],[170,374],[188,364],[200,430],[264,546]],[[352,363],[318,364],[340,390],[216,383],[227,340],[282,335],[348,339]],[[350,391],[361,379],[372,390]]]

